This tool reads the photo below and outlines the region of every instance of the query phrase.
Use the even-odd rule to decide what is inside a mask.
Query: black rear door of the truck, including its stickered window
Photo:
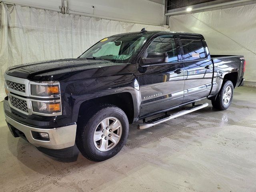
[[[185,68],[183,103],[210,94],[213,64],[202,36],[180,36],[182,61]]]

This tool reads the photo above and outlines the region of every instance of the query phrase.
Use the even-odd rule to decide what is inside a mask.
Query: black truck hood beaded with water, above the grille
[[[119,64],[107,60],[88,60],[84,58],[59,59],[13,66],[6,70],[6,74],[31,80],[34,78],[38,79],[36,77],[57,76],[58,74],[66,74],[114,65]]]

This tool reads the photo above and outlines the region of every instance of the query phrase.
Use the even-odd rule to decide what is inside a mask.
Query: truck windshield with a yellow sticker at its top
[[[104,38],[96,43],[80,58],[104,59],[113,62],[128,62],[131,56],[138,51],[145,36],[118,36]]]

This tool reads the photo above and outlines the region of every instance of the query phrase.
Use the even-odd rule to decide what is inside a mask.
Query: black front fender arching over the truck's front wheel
[[[130,93],[134,108],[134,121],[140,114],[140,88],[133,74],[100,77],[79,82],[70,82],[65,87],[63,113],[77,122],[80,106],[83,102],[110,96],[112,94]]]

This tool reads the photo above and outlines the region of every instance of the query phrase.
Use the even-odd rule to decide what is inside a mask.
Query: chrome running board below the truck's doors
[[[158,117],[158,118],[155,118],[155,119],[152,119],[152,120],[149,120],[149,121],[144,121],[143,124],[138,124],[138,129],[146,129],[146,128],[149,128],[149,127],[152,127],[152,126],[155,126],[155,125],[158,125],[160,123],[163,123],[163,122],[166,122],[166,121],[169,121],[171,119],[175,119],[179,116],[182,116],[182,115],[186,115],[188,113],[191,113],[191,112],[194,112],[194,111],[197,111],[199,109],[202,109],[202,108],[205,108],[207,107],[209,104],[208,103],[204,103],[204,104],[199,104],[199,105],[195,105],[195,106],[192,106],[192,107],[189,107],[189,108],[186,108],[180,112],[177,112],[177,113],[174,113],[174,114],[171,114],[171,115],[166,115],[166,116],[161,116],[161,117]]]

